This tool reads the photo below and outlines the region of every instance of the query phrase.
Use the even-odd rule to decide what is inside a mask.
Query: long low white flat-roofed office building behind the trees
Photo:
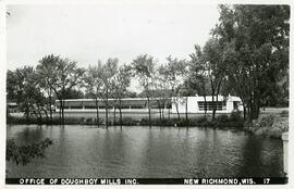
[[[170,111],[172,114],[177,113],[176,104],[179,108],[179,113],[186,113],[186,103],[187,113],[205,113],[205,106],[207,113],[212,113],[213,108],[211,96],[207,96],[206,100],[203,96],[187,98],[181,97],[171,99],[151,98],[149,102],[152,112],[159,111],[160,104],[161,109]],[[238,97],[218,96],[218,102],[217,97],[215,97],[215,103],[217,103],[217,113],[231,113],[233,111],[243,111],[242,101]],[[118,105],[118,101],[115,101],[114,99],[109,99],[109,112],[114,111],[113,105]],[[121,105],[122,112],[125,113],[148,113],[147,98],[125,98],[122,99]],[[105,112],[106,106],[101,99],[98,100],[98,108],[99,112]],[[57,100],[56,103],[56,111],[60,111],[59,100]],[[64,100],[64,112],[96,112],[96,101],[95,99],[66,99]]]

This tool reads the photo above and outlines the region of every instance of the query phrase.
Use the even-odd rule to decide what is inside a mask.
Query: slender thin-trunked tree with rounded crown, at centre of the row
[[[151,126],[150,89],[154,81],[155,64],[155,59],[148,54],[138,55],[132,62],[132,70],[134,72],[134,76],[138,78],[140,86],[144,88],[144,91],[146,91],[149,126]]]

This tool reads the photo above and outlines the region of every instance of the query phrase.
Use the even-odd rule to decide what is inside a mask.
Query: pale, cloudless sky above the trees
[[[47,54],[81,67],[139,54],[164,63],[188,59],[218,23],[217,4],[14,4],[8,5],[7,68],[36,65]]]

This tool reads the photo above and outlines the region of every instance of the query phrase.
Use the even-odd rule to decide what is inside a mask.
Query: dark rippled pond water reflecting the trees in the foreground
[[[282,177],[282,140],[211,128],[8,126],[17,144],[53,140],[7,177]]]

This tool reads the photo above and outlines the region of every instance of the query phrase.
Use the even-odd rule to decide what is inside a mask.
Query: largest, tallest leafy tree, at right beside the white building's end
[[[289,5],[220,5],[212,33],[224,47],[225,74],[248,121],[258,118],[262,99],[289,70]]]

